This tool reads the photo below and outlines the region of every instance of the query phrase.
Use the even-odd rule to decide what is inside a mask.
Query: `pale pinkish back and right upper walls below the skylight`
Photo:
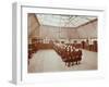
[[[55,27],[55,26],[40,26],[39,27],[41,38],[97,38],[97,22],[89,23],[78,28]]]

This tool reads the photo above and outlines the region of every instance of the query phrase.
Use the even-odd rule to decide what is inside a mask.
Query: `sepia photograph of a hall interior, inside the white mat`
[[[27,13],[27,73],[98,70],[98,17]]]

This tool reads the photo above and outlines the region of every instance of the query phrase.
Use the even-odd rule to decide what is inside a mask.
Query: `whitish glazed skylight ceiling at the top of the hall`
[[[40,25],[58,26],[58,27],[77,27],[89,21],[97,18],[96,16],[86,15],[55,15],[55,14],[36,14]]]

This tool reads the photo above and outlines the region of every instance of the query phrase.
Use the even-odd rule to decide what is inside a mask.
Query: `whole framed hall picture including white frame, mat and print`
[[[104,9],[13,3],[13,83],[104,77]]]

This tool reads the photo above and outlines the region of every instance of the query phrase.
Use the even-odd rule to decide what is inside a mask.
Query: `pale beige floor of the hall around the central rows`
[[[39,50],[29,60],[28,73],[97,70],[97,52],[82,51],[81,64],[68,67],[55,50]]]

